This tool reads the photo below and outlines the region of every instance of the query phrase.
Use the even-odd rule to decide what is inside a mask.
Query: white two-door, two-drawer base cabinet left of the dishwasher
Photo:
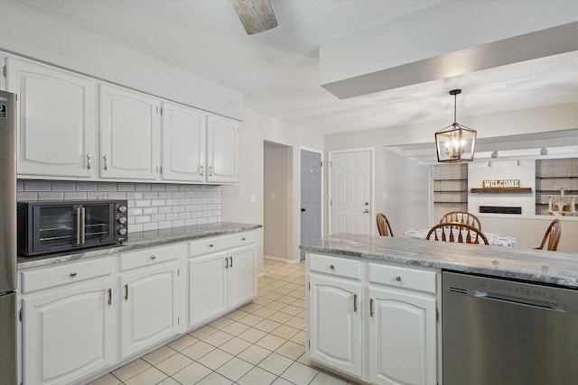
[[[307,256],[308,352],[373,384],[435,385],[436,270]]]

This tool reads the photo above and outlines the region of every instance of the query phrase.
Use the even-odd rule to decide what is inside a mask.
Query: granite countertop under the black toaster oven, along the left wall
[[[128,241],[122,244],[112,244],[109,246],[92,247],[80,249],[75,252],[60,252],[40,255],[37,257],[18,256],[18,269],[51,265],[67,261],[76,261],[87,258],[99,257],[117,252],[127,252],[144,247],[157,246],[166,243],[191,241],[210,236],[234,234],[255,230],[262,225],[239,224],[234,222],[218,222],[208,225],[194,225],[184,227],[174,227],[163,230],[152,230],[138,233],[129,233]]]

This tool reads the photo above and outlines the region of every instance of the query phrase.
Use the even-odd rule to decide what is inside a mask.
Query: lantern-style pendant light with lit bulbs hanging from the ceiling
[[[437,161],[458,163],[473,160],[476,146],[476,131],[456,122],[456,102],[461,89],[452,89],[453,124],[435,133]]]

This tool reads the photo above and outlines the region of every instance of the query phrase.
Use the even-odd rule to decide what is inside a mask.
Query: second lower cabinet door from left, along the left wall
[[[178,265],[121,274],[120,358],[178,333]]]

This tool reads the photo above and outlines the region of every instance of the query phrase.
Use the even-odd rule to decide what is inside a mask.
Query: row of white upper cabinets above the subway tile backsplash
[[[3,60],[6,90],[19,102],[18,178],[238,182],[238,121],[32,60]]]

